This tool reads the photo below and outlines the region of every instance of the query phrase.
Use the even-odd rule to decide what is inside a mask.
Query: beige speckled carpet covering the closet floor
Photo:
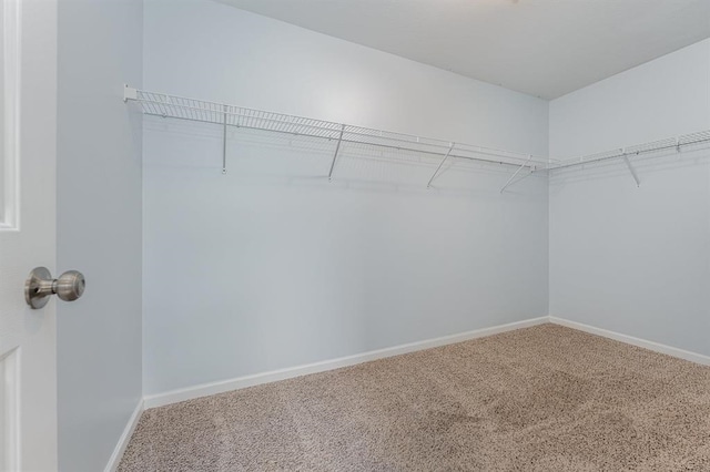
[[[129,471],[710,471],[710,368],[541,325],[148,410]]]

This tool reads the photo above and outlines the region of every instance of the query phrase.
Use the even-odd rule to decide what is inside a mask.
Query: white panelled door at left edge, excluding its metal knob
[[[23,285],[57,269],[57,0],[0,7],[0,470],[55,471],[57,301]]]

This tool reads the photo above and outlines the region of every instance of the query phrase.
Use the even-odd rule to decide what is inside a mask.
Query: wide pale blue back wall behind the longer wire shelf
[[[545,155],[547,102],[202,0],[150,1],[144,88]],[[547,182],[144,124],[144,391],[547,315]]]

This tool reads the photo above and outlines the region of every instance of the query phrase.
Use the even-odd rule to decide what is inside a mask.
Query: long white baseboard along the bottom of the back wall
[[[271,372],[256,373],[253,376],[239,377],[236,379],[223,380],[212,383],[203,383],[184,389],[172,390],[164,393],[146,396],[143,399],[145,409],[163,407],[180,401],[192,400],[194,398],[207,397],[215,393],[223,393],[231,390],[239,390],[246,387],[253,387],[262,383],[271,383],[278,380],[291,379],[294,377],[306,376],[308,373],[324,372],[326,370],[339,369],[342,367],[355,366],[357,363],[371,360],[383,359],[392,356],[399,356],[407,352],[419,351],[423,349],[436,348],[439,346],[452,345],[455,342],[467,341],[469,339],[481,338],[484,336],[497,335],[499,332],[513,331],[515,329],[528,328],[536,325],[549,322],[548,317],[528,319],[525,321],[516,321],[507,325],[494,326],[490,328],[476,329],[474,331],[462,332],[458,335],[444,336],[424,341],[409,342],[407,345],[395,346],[392,348],[378,349],[375,351],[364,352],[355,356],[342,357],[338,359],[325,360],[322,362],[308,363],[305,366],[292,367],[287,369],[273,370]]]

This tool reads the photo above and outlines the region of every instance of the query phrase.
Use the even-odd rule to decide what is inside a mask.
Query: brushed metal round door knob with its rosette
[[[32,309],[38,309],[47,305],[50,295],[74,301],[85,288],[84,276],[78,270],[67,270],[59,278],[52,278],[47,267],[36,267],[24,283],[24,300]]]

